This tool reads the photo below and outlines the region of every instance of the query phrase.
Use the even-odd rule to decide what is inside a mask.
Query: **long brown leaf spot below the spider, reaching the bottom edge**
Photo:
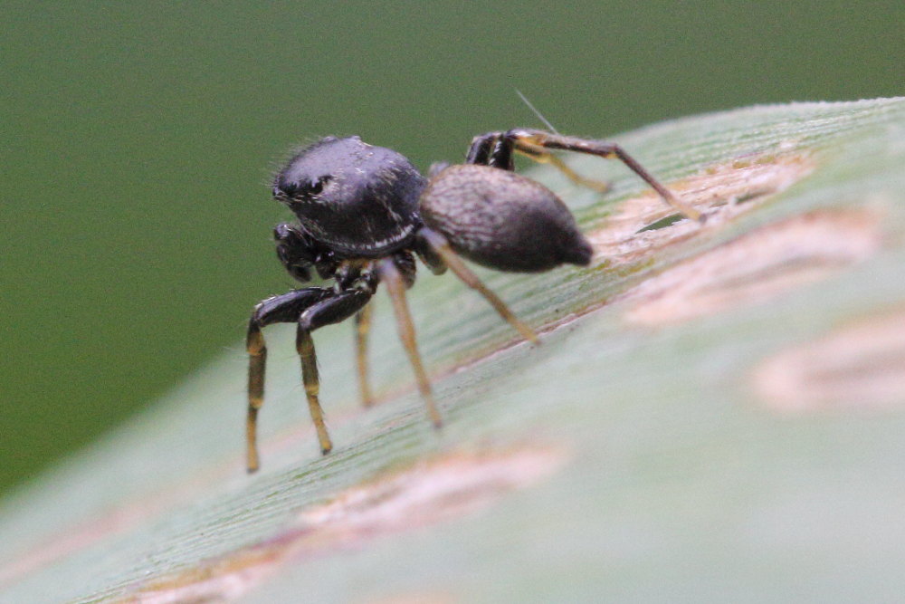
[[[561,449],[532,446],[452,453],[379,475],[304,510],[271,539],[141,583],[128,601],[236,599],[287,561],[360,549],[376,538],[478,512],[537,483],[566,460]]]

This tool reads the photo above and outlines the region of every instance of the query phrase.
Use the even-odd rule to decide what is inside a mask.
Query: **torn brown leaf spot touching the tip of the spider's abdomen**
[[[683,203],[706,216],[704,225],[683,219],[651,191],[626,199],[602,228],[587,237],[594,245],[595,257],[614,265],[634,263],[666,245],[718,228],[792,186],[813,169],[813,161],[801,155],[739,158],[669,183]]]

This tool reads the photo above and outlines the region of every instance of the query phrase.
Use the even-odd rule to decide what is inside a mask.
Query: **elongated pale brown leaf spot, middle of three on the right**
[[[624,296],[625,318],[660,325],[764,302],[865,260],[881,244],[880,214],[820,210],[763,226],[655,276]]]

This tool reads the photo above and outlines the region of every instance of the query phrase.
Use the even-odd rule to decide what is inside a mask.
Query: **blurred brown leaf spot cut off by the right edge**
[[[782,411],[905,405],[905,309],[779,352],[754,372],[754,386]]]

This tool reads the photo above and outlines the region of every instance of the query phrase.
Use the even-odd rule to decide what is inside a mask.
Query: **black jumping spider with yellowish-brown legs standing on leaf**
[[[621,160],[670,206],[700,220],[637,161],[613,143],[577,139],[534,129],[510,129],[475,137],[465,163],[432,167],[423,177],[392,149],[374,147],[358,137],[327,137],[302,149],[277,173],[273,197],[298,219],[274,228],[277,254],[301,283],[313,268],[332,287],[304,287],[259,302],[248,323],[247,463],[259,467],[256,444],[258,410],[263,404],[267,348],[262,329],[271,323],[297,324],[296,349],[302,381],[320,450],[333,447],[320,407],[319,378],[311,332],[345,321],[357,322],[357,368],[366,406],[367,302],[379,283],[393,302],[399,336],[414,369],[418,390],[433,425],[442,418],[431,393],[414,338],[405,290],[414,284],[415,256],[434,274],[452,270],[480,292],[500,316],[526,340],[538,336],[510,311],[462,262],[500,271],[535,273],[560,264],[587,265],[593,249],[575,218],[547,187],[519,176],[513,155],[519,152],[561,169],[577,183],[605,185],[576,175],[551,150],[577,151]]]

